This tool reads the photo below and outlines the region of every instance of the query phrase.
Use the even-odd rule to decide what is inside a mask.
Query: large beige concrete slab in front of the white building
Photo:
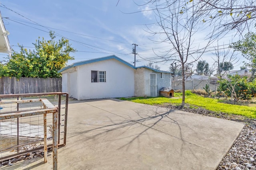
[[[58,169],[214,170],[243,126],[117,99],[73,101]],[[13,168],[52,169],[52,153],[43,162],[25,160]]]

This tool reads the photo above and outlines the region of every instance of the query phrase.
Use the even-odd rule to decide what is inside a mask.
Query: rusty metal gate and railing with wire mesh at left
[[[66,145],[67,113],[67,93],[0,95],[0,162],[42,149],[46,162],[52,148],[56,169],[57,148]]]

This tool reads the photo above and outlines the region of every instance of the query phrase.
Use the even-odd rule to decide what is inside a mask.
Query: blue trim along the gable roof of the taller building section
[[[67,70],[68,68],[72,68],[72,67],[75,67],[75,66],[80,66],[80,65],[89,64],[89,63],[95,63],[95,62],[98,62],[98,61],[104,61],[104,60],[108,60],[108,59],[116,59],[117,61],[120,61],[121,63],[124,63],[127,66],[130,66],[130,67],[134,68],[134,66],[132,64],[124,61],[123,59],[120,59],[119,57],[116,57],[116,55],[110,55],[110,56],[107,56],[107,57],[101,57],[101,58],[97,58],[97,59],[80,61],[80,62],[70,64],[70,65],[62,68],[61,70],[58,70],[58,73],[63,72],[64,70]]]

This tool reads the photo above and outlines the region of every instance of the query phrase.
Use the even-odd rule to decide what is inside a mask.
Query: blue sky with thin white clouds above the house
[[[144,0],[136,2],[143,4]],[[152,41],[157,37],[148,33],[145,24],[155,22],[154,13],[138,12],[147,9],[148,6],[138,6],[132,0],[0,0],[0,12],[14,51],[20,51],[18,44],[33,49],[32,43],[38,37],[49,39],[51,30],[57,38],[69,39],[76,49],[76,53],[70,54],[75,60],[68,61],[68,64],[109,55],[134,64],[132,44],[135,43],[138,45],[136,66],[146,65],[147,60],[156,57],[155,53],[170,48],[166,43]],[[156,26],[150,27],[154,29]],[[219,44],[229,44],[234,39],[237,37],[233,34],[226,35]],[[196,42],[197,45],[200,41]],[[4,57],[5,54],[0,54],[0,60]],[[214,64],[212,58],[212,53],[206,53],[201,60],[206,60],[211,66]],[[234,65],[237,70],[245,59],[238,54],[238,60]],[[157,65],[166,71],[170,62]]]

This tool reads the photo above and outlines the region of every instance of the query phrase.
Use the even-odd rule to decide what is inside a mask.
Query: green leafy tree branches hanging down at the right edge
[[[251,80],[256,78],[256,34],[247,33],[244,39],[239,40],[231,45],[235,51],[240,51],[244,58],[246,58],[249,63],[245,63],[252,72]]]

